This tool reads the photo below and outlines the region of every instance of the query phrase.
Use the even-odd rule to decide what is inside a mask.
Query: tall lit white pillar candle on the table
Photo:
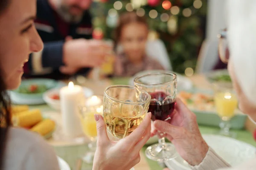
[[[79,85],[70,82],[68,86],[61,88],[61,113],[62,129],[65,135],[77,137],[83,134],[79,120],[79,103],[84,98],[84,93]]]

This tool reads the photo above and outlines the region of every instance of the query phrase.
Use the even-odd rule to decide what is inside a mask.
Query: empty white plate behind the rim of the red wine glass
[[[156,72],[163,72],[163,70],[147,70],[147,71],[141,71],[137,74],[134,75],[134,77],[132,77],[130,80],[129,80],[129,85],[131,86],[134,86],[134,79],[135,77],[137,76],[140,76],[140,75],[143,75],[143,74],[149,74],[149,73],[156,73]],[[172,72],[172,71],[171,71]],[[175,72],[173,72],[175,73]],[[182,90],[190,90],[192,87],[193,87],[193,83],[192,81],[185,77],[185,76],[182,76],[180,74],[177,74],[177,88],[178,88],[178,91],[182,91]]]

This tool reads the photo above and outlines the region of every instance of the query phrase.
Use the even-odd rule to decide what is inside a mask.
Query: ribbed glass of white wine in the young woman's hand
[[[151,96],[146,91],[128,85],[113,85],[105,89],[103,118],[108,133],[116,140],[131,134],[143,121]]]

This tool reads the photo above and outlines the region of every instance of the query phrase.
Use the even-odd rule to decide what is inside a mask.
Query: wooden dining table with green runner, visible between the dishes
[[[211,89],[212,85],[207,80],[207,78],[203,74],[194,74],[191,77],[188,77],[193,86],[199,89]],[[83,86],[90,88],[93,90],[94,95],[103,95],[104,90],[109,85],[128,85],[130,77],[122,77],[122,78],[108,78],[97,80],[96,82],[93,80],[84,81],[82,83]],[[64,80],[64,82],[68,82]],[[44,116],[49,116],[52,119],[59,119],[61,113],[55,111],[50,108],[48,105],[34,105],[31,108],[38,108],[42,111]],[[218,132],[218,127],[199,125],[199,129],[202,134],[215,134]],[[246,142],[256,147],[256,141],[253,139],[252,132],[256,129],[256,125],[254,125],[249,119],[246,121],[245,127],[242,130],[232,130],[237,134],[236,139],[239,141]],[[56,154],[67,161],[72,170],[91,170],[91,164],[85,164],[81,161],[81,156],[88,150],[87,144],[84,142],[80,143],[70,143],[63,141],[54,141],[53,139],[47,139],[50,145],[54,148]],[[158,162],[152,161],[145,156],[145,149],[148,145],[145,145],[141,152],[141,161],[134,168],[135,170],[162,170],[163,166],[161,166]],[[80,166],[81,165],[81,166]]]

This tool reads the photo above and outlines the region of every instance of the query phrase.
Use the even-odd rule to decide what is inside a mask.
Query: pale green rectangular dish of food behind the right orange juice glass
[[[216,113],[213,91],[194,89],[192,91],[180,91],[177,94],[197,116],[200,125],[219,126],[220,118]],[[242,129],[247,116],[239,108],[235,110],[235,116],[230,120],[233,129]]]

